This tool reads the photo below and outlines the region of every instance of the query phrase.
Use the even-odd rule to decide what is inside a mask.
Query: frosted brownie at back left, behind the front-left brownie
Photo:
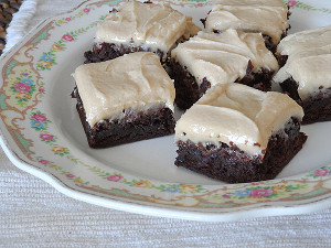
[[[114,9],[97,28],[85,63],[113,60],[127,53],[154,52],[162,62],[178,42],[200,29],[169,4],[129,1]]]

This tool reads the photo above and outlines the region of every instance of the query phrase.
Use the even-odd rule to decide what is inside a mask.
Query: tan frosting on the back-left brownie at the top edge
[[[169,4],[129,1],[110,12],[99,24],[95,43],[115,43],[160,50],[167,55],[181,37],[195,35],[200,29]]]

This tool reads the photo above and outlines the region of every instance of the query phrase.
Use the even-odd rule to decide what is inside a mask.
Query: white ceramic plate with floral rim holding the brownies
[[[17,166],[74,198],[154,216],[216,222],[331,206],[331,122],[303,127],[305,148],[267,182],[231,185],[178,169],[173,136],[89,149],[71,74],[96,24],[119,2],[92,0],[45,20],[2,57],[1,145]],[[196,23],[211,9],[204,0],[170,2]],[[330,1],[288,4],[291,32],[331,23]]]

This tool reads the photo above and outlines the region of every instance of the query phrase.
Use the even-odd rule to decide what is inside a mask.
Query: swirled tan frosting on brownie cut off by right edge
[[[288,60],[274,82],[292,77],[299,84],[301,99],[331,87],[331,25],[288,35],[279,43],[277,53],[288,55]]]

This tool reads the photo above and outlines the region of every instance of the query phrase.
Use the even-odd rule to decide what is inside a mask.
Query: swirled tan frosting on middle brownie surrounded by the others
[[[254,72],[279,68],[260,34],[236,30],[220,34],[199,32],[172,50],[171,57],[185,66],[197,84],[206,78],[211,86],[243,78],[249,61]]]

